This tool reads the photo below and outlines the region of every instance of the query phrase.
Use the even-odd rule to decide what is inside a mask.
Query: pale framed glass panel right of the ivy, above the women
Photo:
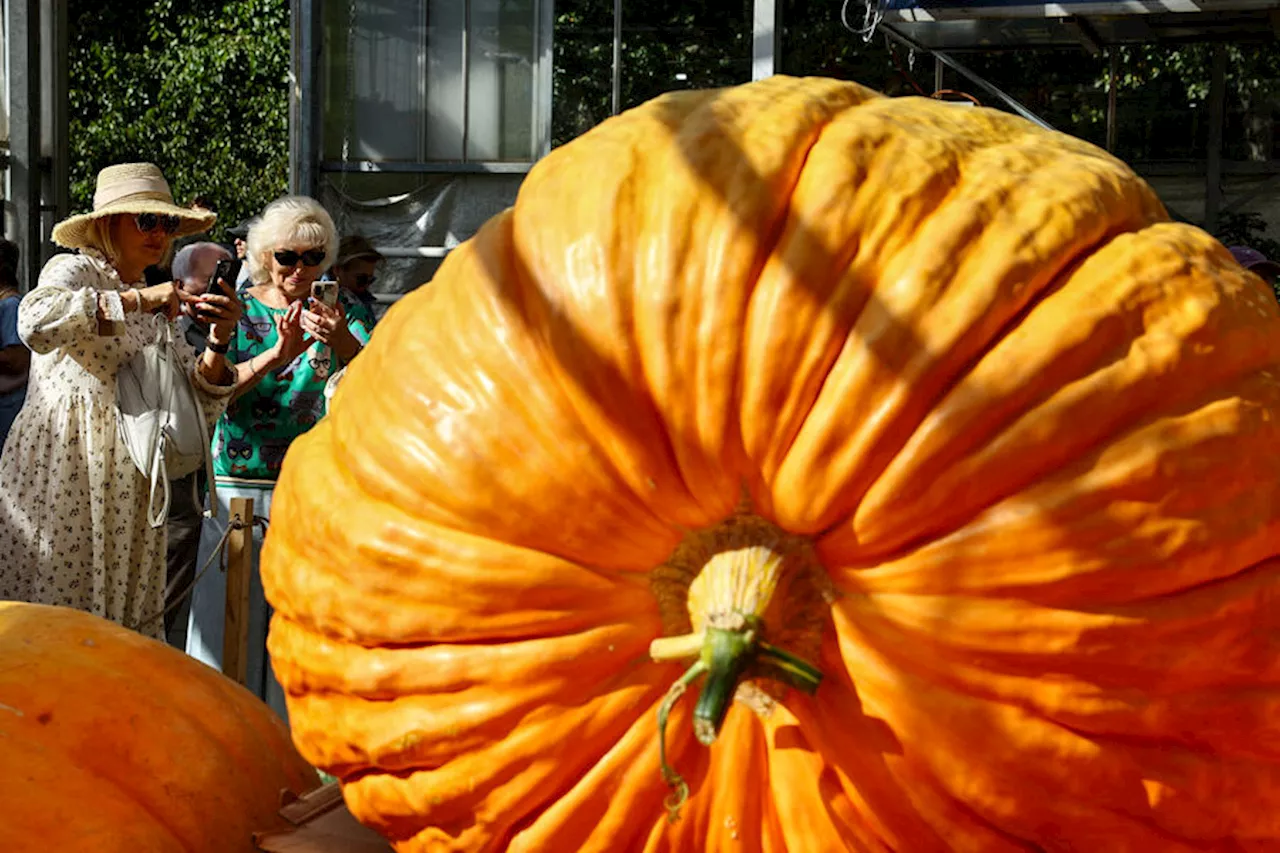
[[[549,1],[323,4],[324,159],[535,160]]]

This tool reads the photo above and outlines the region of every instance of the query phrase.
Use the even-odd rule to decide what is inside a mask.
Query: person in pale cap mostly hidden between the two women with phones
[[[173,280],[192,300],[209,291],[218,261],[230,259],[230,252],[218,243],[188,243],[173,259]],[[228,283],[234,287],[234,282]],[[209,323],[183,305],[178,328],[200,355],[209,338]],[[169,482],[169,543],[165,553],[165,617],[164,631],[170,646],[187,647],[187,620],[191,612],[191,584],[196,578],[202,526],[205,471],[200,469]]]

